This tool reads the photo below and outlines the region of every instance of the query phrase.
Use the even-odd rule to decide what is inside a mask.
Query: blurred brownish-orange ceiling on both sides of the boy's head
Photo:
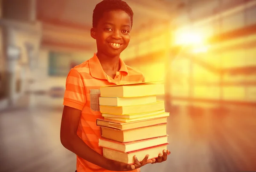
[[[38,0],[43,46],[93,49],[90,37],[93,9],[101,0]],[[182,0],[125,0],[134,11],[132,33],[170,20]],[[131,33],[131,34],[132,34]]]

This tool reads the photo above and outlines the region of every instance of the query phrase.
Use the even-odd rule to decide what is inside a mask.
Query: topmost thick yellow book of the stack
[[[160,83],[132,83],[100,88],[100,97],[143,97],[163,94],[164,84]]]

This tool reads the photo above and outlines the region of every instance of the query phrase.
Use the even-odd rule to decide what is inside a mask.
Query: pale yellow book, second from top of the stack
[[[157,102],[156,95],[143,97],[99,97],[99,105],[103,106],[132,106]]]

